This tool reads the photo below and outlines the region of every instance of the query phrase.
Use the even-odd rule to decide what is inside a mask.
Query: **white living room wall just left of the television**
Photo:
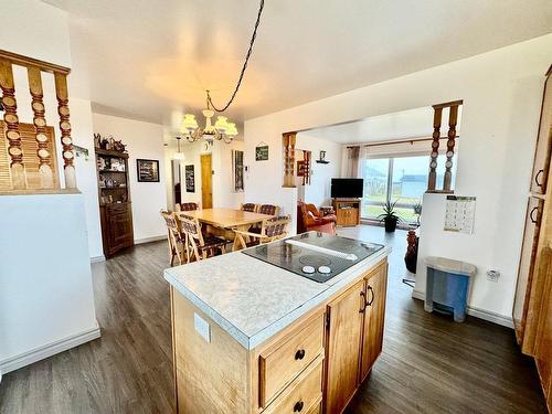
[[[341,145],[316,137],[315,131],[297,134],[296,148],[311,151],[311,178],[310,184],[305,185],[305,202],[320,205],[331,205],[330,187],[331,179],[340,177],[341,173]],[[329,163],[317,163],[320,151],[326,151],[326,160]]]

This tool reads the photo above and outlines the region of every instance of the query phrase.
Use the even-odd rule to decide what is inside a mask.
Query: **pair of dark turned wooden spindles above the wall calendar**
[[[445,104],[433,105],[433,141],[432,141],[432,156],[429,160],[429,179],[427,181],[427,192],[444,192],[450,193],[453,183],[453,157],[454,146],[456,142],[456,125],[458,123],[458,107],[463,100],[447,102]],[[448,114],[448,134],[447,134],[447,150],[445,161],[445,177],[443,180],[443,189],[436,189],[437,185],[437,158],[439,156],[439,139],[440,139],[440,124],[443,118],[443,109],[449,108]]]

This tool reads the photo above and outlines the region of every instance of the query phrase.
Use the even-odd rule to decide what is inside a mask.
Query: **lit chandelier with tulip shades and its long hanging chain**
[[[232,93],[232,96],[230,97],[227,104],[222,108],[217,108],[213,104],[213,100],[211,99],[211,95],[208,89],[205,91],[206,109],[203,109],[203,116],[205,117],[205,126],[203,128],[200,128],[198,121],[195,120],[195,115],[184,114],[184,118],[182,119],[182,123],[180,125],[180,131],[184,134],[184,137],[188,141],[194,142],[200,140],[201,138],[204,138],[211,144],[214,140],[219,141],[223,140],[224,142],[230,144],[237,135],[236,125],[234,123],[229,123],[227,117],[217,116],[214,125],[211,123],[211,118],[214,116],[215,112],[216,113],[225,112],[230,107],[230,105],[232,105],[232,103],[234,102],[234,98],[237,95],[237,91],[240,91],[240,86],[242,85],[242,81],[245,75],[245,70],[247,68],[247,63],[250,62],[250,57],[253,52],[253,45],[255,44],[258,24],[261,23],[261,14],[263,13],[264,7],[265,7],[265,0],[261,0],[257,12],[257,20],[255,22],[255,28],[253,29],[253,34],[250,41],[250,49],[247,50],[247,54],[245,55],[245,61],[242,66],[242,72],[240,73],[236,87],[234,88],[234,92]]]

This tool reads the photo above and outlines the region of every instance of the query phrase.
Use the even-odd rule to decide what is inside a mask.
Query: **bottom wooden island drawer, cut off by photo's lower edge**
[[[264,413],[318,413],[322,397],[322,355],[319,355]]]

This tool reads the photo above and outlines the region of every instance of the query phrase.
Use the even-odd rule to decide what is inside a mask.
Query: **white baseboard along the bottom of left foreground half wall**
[[[31,363],[55,355],[56,353],[66,351],[71,348],[78,347],[79,344],[97,339],[100,336],[102,331],[96,322],[94,328],[0,361],[0,381],[2,374],[19,370],[20,368],[30,365]]]

